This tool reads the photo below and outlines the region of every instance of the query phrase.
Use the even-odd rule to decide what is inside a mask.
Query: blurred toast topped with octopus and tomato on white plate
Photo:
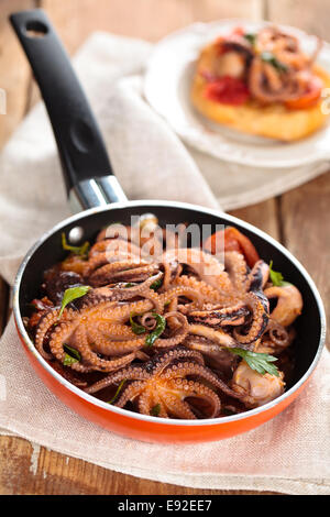
[[[321,41],[306,55],[298,38],[265,25],[235,28],[202,48],[191,88],[206,118],[244,133],[295,141],[327,120],[321,109],[329,73],[316,64]]]

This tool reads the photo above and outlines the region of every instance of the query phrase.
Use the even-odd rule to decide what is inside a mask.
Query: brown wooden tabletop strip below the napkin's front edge
[[[0,448],[1,494],[34,495],[217,495],[250,494],[245,491],[195,490],[141,480],[108,471],[32,446],[23,439],[2,437]],[[264,494],[272,494],[265,492]]]

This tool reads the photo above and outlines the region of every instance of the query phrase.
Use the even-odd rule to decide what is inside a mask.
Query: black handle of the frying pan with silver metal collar
[[[99,127],[51,21],[42,9],[10,15],[41,89],[58,147],[68,197],[78,209],[125,196]]]

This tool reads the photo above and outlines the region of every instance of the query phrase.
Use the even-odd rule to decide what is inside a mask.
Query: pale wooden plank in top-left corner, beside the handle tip
[[[0,6],[0,88],[7,94],[7,114],[0,114],[0,148],[26,110],[31,82],[30,66],[9,22],[10,13],[35,7],[34,0],[1,0]]]

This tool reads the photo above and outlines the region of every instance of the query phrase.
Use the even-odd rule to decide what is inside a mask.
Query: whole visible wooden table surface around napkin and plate
[[[0,145],[38,99],[25,57],[13,36],[10,12],[44,8],[70,53],[95,30],[156,42],[195,21],[244,16],[297,25],[329,38],[327,0],[1,0],[0,87],[8,114],[0,116]],[[328,32],[327,32],[328,31]],[[314,277],[329,314],[329,174],[265,202],[234,210],[286,245]],[[328,261],[329,262],[329,261]],[[0,279],[0,333],[8,318],[8,286]],[[38,448],[19,438],[0,437],[0,494],[252,494],[201,491],[140,480]]]

